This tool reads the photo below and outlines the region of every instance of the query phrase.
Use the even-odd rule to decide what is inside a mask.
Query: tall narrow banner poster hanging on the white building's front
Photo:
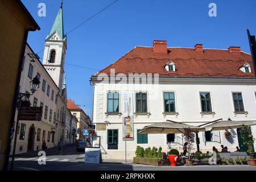
[[[134,139],[133,128],[133,91],[124,91],[123,97],[123,140]]]

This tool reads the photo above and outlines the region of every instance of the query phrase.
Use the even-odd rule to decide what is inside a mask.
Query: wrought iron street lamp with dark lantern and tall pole
[[[30,81],[30,90],[31,93],[34,94],[36,90],[39,88],[40,81],[38,77],[36,76],[33,78],[32,81]],[[18,106],[18,117],[16,121],[16,127],[15,127],[15,135],[14,135],[14,144],[13,144],[13,156],[11,158],[11,171],[13,171],[13,166],[14,166],[14,158],[15,158],[15,150],[16,150],[16,142],[17,142],[17,135],[18,135],[18,126],[19,126],[19,113],[20,113],[20,106],[22,103],[22,98],[26,97],[29,98],[32,96],[32,94],[29,93],[18,93],[18,101],[17,101],[17,106]]]

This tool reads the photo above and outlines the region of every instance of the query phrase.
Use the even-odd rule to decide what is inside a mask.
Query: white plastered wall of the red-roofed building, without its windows
[[[106,141],[106,131],[96,131],[101,136],[102,145],[102,157],[124,159],[125,157],[125,141],[122,140],[122,116],[108,115],[106,116],[106,96],[108,91],[119,91],[120,98],[122,98],[123,90],[133,90],[135,97],[135,91],[146,91],[148,93],[148,112],[150,116],[138,115],[134,118],[134,131],[142,129],[144,126],[150,125],[155,122],[165,122],[166,119],[178,122],[188,122],[191,125],[200,125],[205,122],[214,121],[216,119],[228,118],[234,121],[255,121],[256,120],[256,101],[255,81],[195,81],[195,80],[168,80],[161,81],[156,88],[151,88],[148,85],[127,85],[127,84],[102,84],[96,82],[94,84],[94,105],[93,105],[93,123],[105,123],[109,121],[111,125],[107,126],[107,129],[118,129],[119,132],[119,144],[118,150],[108,150]],[[164,105],[163,105],[163,92],[175,92],[176,98],[176,111],[178,115],[166,115],[164,117]],[[212,110],[215,114],[201,115],[201,103],[199,92],[210,92],[212,101]],[[235,114],[233,106],[232,92],[242,92],[245,111],[248,114]],[[135,100],[135,98],[134,98]],[[134,102],[135,112],[135,102]],[[122,113],[122,101],[119,103],[119,110]],[[256,134],[255,127],[252,127],[254,135]],[[236,131],[236,130],[234,130]],[[209,151],[213,146],[216,146],[220,150],[220,145],[224,144],[229,148],[229,151],[234,151],[238,146],[238,140],[234,135],[233,143],[228,142],[224,136],[225,131],[220,131],[220,141],[217,142],[203,142],[203,134],[199,133],[200,137],[200,149],[202,151]],[[234,133],[236,134],[236,133]],[[132,158],[135,155],[135,148],[137,146],[137,135],[134,134],[133,141],[127,141],[127,156]],[[166,144],[166,134],[148,134],[148,144],[138,144],[144,147],[159,147],[161,146],[164,151],[168,151],[168,145]],[[181,151],[182,146],[176,145]],[[196,148],[196,145],[195,145]]]

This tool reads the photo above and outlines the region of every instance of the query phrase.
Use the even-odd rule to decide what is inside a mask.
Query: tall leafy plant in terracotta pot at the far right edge
[[[251,134],[251,127],[250,126],[243,126],[241,130],[241,137],[243,140],[243,144],[247,146],[247,154],[250,156],[248,159],[248,163],[250,166],[256,166],[256,155],[254,152],[254,140],[253,135]]]

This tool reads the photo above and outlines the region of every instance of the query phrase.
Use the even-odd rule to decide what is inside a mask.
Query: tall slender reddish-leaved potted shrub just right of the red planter
[[[187,142],[188,159],[186,159],[187,166],[193,166],[193,159],[191,159],[191,150],[193,143],[195,143],[195,133],[189,128],[184,128],[184,139]]]

